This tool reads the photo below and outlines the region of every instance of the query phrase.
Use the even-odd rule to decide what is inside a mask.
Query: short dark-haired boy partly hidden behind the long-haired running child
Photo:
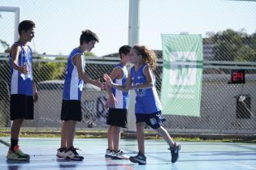
[[[112,81],[120,86],[124,86],[128,78],[127,64],[130,62],[130,50],[129,45],[119,48],[121,61],[110,74]],[[109,125],[109,128],[107,131],[108,148],[105,157],[128,159],[128,156],[124,155],[124,152],[119,149],[121,128],[127,126],[128,92],[119,91],[115,88],[111,89],[108,86],[106,86],[106,91],[109,96],[106,103],[106,107],[109,108],[106,124]]]

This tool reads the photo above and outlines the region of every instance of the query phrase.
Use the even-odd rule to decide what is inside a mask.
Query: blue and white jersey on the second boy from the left
[[[64,87],[63,87],[63,99],[64,100],[81,100],[81,93],[84,86],[84,81],[78,77],[76,66],[73,65],[72,58],[77,54],[81,55],[81,64],[83,71],[85,71],[85,57],[79,49],[73,49],[67,58],[67,70],[65,75]]]

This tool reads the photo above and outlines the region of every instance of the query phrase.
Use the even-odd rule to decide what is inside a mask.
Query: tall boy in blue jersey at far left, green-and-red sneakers
[[[28,160],[18,145],[20,127],[24,119],[33,119],[33,102],[37,101],[37,89],[33,83],[33,53],[27,45],[34,37],[35,23],[24,20],[19,24],[20,38],[11,46],[9,63],[11,66],[11,147],[7,159]]]

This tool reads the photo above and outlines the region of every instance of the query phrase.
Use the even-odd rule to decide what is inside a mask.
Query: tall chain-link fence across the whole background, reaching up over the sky
[[[63,79],[67,62],[67,56],[61,54],[69,53],[71,47],[78,45],[81,30],[90,28],[98,34],[100,42],[90,55],[104,56],[87,57],[86,73],[92,79],[102,79],[102,74],[111,72],[119,61],[117,49],[128,42],[128,2],[1,2],[1,6],[20,6],[20,20],[32,19],[36,23],[36,37],[31,46],[36,52],[33,76],[40,98],[35,104],[35,119],[26,121],[25,126],[60,127]],[[167,115],[164,126],[176,131],[203,133],[208,130],[255,134],[256,2],[141,0],[140,9],[140,44],[154,49],[158,56],[158,66],[154,71],[158,94],[162,87],[163,71],[161,34],[201,34],[203,38],[200,117]],[[75,10],[80,12],[73,12]],[[8,54],[5,52],[8,52],[13,43],[14,17],[1,11],[0,14],[0,25],[4,26],[0,30],[0,126],[6,127],[11,122],[10,71]],[[51,19],[46,14],[50,14]],[[245,83],[230,83],[233,70],[245,71]],[[82,96],[83,120],[78,127],[106,127],[107,111],[103,108],[106,98],[106,91],[85,84]]]

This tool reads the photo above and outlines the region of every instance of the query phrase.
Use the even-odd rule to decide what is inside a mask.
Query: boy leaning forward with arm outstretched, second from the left
[[[99,81],[90,79],[85,74],[85,51],[90,52],[98,42],[98,36],[90,30],[85,30],[80,35],[80,45],[73,49],[67,58],[67,70],[63,87],[63,104],[61,108],[61,120],[64,121],[61,133],[61,146],[57,150],[57,156],[72,160],[82,160],[83,156],[73,147],[76,122],[81,121],[81,93],[83,84],[91,83],[103,88]]]

